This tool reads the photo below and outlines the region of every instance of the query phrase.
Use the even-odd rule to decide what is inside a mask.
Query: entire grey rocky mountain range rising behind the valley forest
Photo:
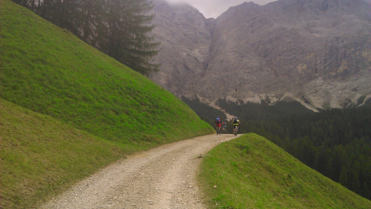
[[[371,4],[279,0],[230,7],[206,19],[187,4],[154,0],[161,71],[150,78],[177,96],[310,109],[371,97]]]

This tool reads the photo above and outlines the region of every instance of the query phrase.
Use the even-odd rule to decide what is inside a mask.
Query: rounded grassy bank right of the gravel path
[[[220,144],[204,157],[201,170],[210,208],[371,208],[371,201],[256,134]]]

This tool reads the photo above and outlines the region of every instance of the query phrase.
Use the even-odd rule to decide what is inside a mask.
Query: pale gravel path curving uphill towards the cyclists
[[[207,135],[129,155],[40,209],[204,209],[196,173],[207,151],[234,138]]]

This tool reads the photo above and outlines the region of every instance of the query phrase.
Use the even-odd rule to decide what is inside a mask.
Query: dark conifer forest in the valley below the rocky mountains
[[[184,100],[214,126],[220,110],[202,111],[199,100]],[[218,101],[242,122],[240,133],[269,139],[309,167],[371,200],[371,107],[313,112],[299,102],[244,103]],[[210,114],[211,113],[211,114]],[[206,119],[205,119],[206,118]],[[228,126],[232,133],[231,125]]]

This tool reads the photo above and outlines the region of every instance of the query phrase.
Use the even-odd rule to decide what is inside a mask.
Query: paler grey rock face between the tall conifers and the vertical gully
[[[202,87],[197,78],[204,77],[207,68],[210,30],[214,28],[215,19],[206,19],[189,4],[153,2],[156,14],[153,32],[157,41],[161,41],[156,60],[162,64],[160,72],[151,79],[176,96],[189,97]]]

